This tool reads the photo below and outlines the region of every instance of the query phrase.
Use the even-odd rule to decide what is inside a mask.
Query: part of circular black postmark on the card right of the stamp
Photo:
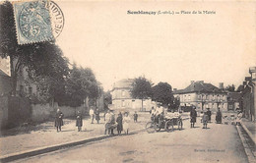
[[[64,15],[60,7],[53,1],[46,1],[45,7],[49,10],[53,36],[56,38],[64,27]]]

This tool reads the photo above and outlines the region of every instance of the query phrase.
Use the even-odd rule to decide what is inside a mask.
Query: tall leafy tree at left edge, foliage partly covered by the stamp
[[[8,1],[0,5],[0,57],[10,58],[12,94],[16,95],[18,73],[27,68],[33,77],[62,78],[67,69],[62,70],[57,61],[62,51],[54,41],[19,45],[12,4]],[[55,62],[53,62],[55,61]]]

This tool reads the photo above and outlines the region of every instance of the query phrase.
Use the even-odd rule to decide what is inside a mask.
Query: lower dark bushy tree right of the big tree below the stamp
[[[74,64],[66,83],[67,101],[70,106],[81,106],[87,97],[96,102],[96,98],[100,95],[96,77],[89,68],[77,68]]]

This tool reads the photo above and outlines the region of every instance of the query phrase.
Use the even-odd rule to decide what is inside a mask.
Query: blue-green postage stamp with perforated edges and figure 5
[[[46,0],[14,3],[17,39],[19,44],[54,39],[50,12]]]

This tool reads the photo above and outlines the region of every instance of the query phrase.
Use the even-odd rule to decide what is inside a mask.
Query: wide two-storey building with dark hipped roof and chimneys
[[[174,89],[173,95],[179,98],[180,106],[195,106],[197,110],[210,108],[213,111],[220,107],[227,111],[227,93],[223,82],[217,87],[204,81],[191,81],[184,89]]]

